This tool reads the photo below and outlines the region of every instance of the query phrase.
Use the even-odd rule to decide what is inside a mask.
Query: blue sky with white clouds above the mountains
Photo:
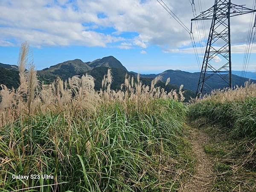
[[[163,1],[190,28],[191,0]],[[199,14],[213,4],[214,0],[195,0],[195,11]],[[242,4],[252,8],[253,0]],[[250,17],[231,19],[233,70],[242,69]],[[202,62],[210,23],[197,24],[200,33],[194,23],[193,34]],[[138,73],[200,71],[189,33],[157,0],[0,0],[0,62],[17,64],[24,41],[30,44],[38,70],[76,58],[86,62],[113,55]],[[248,71],[254,72],[256,46],[252,53]],[[214,61],[218,65],[221,58]]]

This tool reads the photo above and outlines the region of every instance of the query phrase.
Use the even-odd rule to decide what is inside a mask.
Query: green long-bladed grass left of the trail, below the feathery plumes
[[[61,112],[56,106],[51,113],[33,116],[30,127],[23,120],[23,127],[32,131],[31,139],[27,131],[21,139],[19,119],[4,126],[0,151],[8,161],[1,168],[1,191],[61,182],[67,183],[53,189],[155,192],[165,187],[175,191],[186,175],[183,170],[192,166],[189,146],[182,139],[186,107],[163,99],[134,106],[114,102],[100,106],[96,113],[76,113],[76,108]],[[26,143],[32,144],[29,154]],[[11,178],[42,173],[55,179]],[[50,186],[35,189],[52,191]]]

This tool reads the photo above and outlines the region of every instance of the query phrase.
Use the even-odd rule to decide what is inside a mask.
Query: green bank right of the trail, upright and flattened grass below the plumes
[[[213,190],[256,190],[256,97],[202,100],[190,106],[190,117],[211,138],[204,149],[215,159]]]

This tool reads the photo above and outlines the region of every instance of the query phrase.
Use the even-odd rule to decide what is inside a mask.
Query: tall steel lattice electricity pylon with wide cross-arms
[[[233,4],[231,0],[215,0],[214,6],[191,20],[191,22],[212,20],[198,81],[197,96],[202,96],[213,90],[208,82],[215,74],[227,84],[226,87],[232,88],[230,17],[252,12],[256,12],[256,10],[245,8],[244,5]],[[218,66],[214,62],[216,59],[218,59]]]

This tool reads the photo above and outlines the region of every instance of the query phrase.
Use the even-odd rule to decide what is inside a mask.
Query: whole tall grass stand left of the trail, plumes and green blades
[[[20,67],[20,87],[0,91],[1,191],[177,189],[191,162],[180,139],[187,109],[182,87],[166,93],[160,79],[127,76],[114,91],[108,70],[96,92],[92,76],[38,85],[33,66]],[[12,179],[32,174],[54,179]]]

